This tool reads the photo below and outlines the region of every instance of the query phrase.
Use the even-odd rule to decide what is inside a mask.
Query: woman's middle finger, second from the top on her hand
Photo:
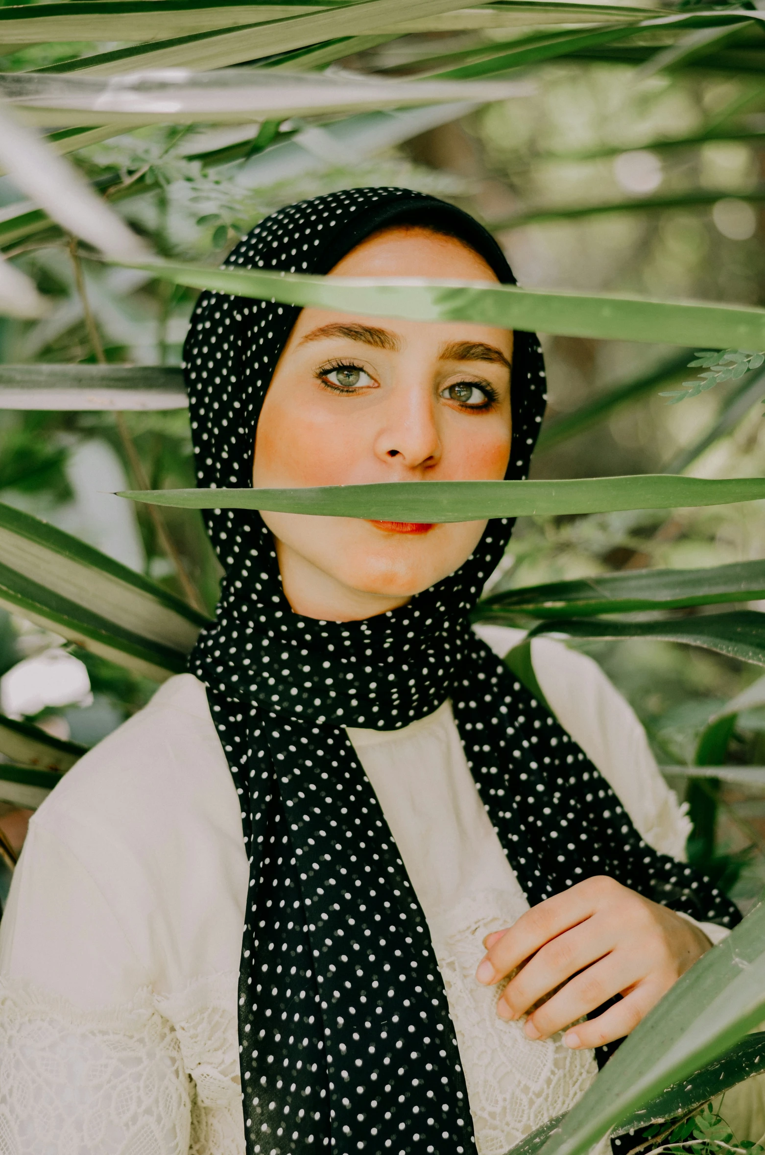
[[[592,969],[592,964],[609,955],[615,946],[614,926],[609,919],[597,915],[558,934],[537,951],[523,969],[510,981],[503,991],[500,1003],[507,1005],[511,1014],[506,1016],[503,1014],[503,1018],[519,1019],[530,1006],[550,991],[555,991],[572,975],[585,968]],[[632,981],[641,977],[643,975],[636,975]],[[567,983],[565,989],[567,990],[570,985]],[[623,983],[617,990],[623,990],[626,985]],[[593,1005],[600,1006],[600,1003]],[[574,1018],[578,1015],[566,1019],[565,1023],[572,1022]]]

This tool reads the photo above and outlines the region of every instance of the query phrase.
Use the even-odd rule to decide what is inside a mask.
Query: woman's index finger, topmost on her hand
[[[615,897],[616,891],[626,893],[607,875],[588,878],[532,907],[489,948],[476,978],[485,984],[504,978],[550,939],[592,917],[599,906]]]

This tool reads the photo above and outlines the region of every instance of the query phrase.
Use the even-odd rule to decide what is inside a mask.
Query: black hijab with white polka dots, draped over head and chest
[[[403,188],[289,206],[226,263],[326,274],[396,223],[458,236],[513,281],[476,222]],[[200,297],[185,348],[200,485],[252,484],[258,416],[298,312]],[[513,360],[507,476],[525,477],[544,410],[533,334],[515,334]],[[247,1155],[474,1146],[428,924],[347,725],[398,729],[451,698],[476,788],[530,903],[608,873],[678,910],[735,918],[688,867],[640,841],[597,770],[469,629],[511,528],[489,522],[465,565],[407,606],[334,623],[291,611],[259,514],[208,515],[225,579],[191,670],[207,686],[250,859],[239,979]]]

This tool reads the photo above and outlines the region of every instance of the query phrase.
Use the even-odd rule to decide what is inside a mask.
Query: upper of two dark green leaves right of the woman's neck
[[[595,613],[677,610],[688,605],[752,602],[765,597],[765,561],[736,561],[708,569],[634,569],[575,581],[500,590],[476,606],[477,620],[519,613],[532,618],[580,618]]]

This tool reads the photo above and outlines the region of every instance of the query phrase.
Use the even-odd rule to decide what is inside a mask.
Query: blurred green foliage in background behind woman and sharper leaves
[[[532,35],[523,27],[422,33],[373,45],[341,64],[407,75],[422,72],[429,51],[467,52],[492,37],[522,43]],[[482,219],[527,288],[765,305],[763,31],[738,33],[737,46],[653,74],[646,74],[645,60],[662,40],[652,32],[644,42],[536,65],[529,69],[529,96],[485,105],[371,159],[325,165],[272,185],[245,188],[231,179],[230,165],[218,170],[207,158],[245,161],[291,139],[299,122],[266,121],[248,137],[240,127],[141,128],[70,157],[88,178],[117,191],[112,202],[158,252],[186,260],[223,259],[238,237],[290,201],[332,188],[399,184],[452,200]],[[46,67],[118,46],[22,47],[0,60],[0,70]],[[9,179],[0,178],[0,213],[18,199]],[[6,255],[35,277],[52,307],[40,321],[0,320],[0,360],[91,363],[103,356],[117,364],[180,363],[194,291],[87,258],[73,260],[57,230],[17,240]],[[533,476],[765,474],[765,374],[756,371],[669,404],[661,393],[692,375],[684,366],[693,350],[543,341],[549,408]],[[141,487],[131,444],[151,489],[194,484],[185,410],[126,413],[121,431],[111,412],[0,410],[0,500],[186,596],[147,507],[136,511],[111,495],[128,483]],[[749,502],[669,514],[521,519],[503,581],[525,586],[765,558],[763,513],[762,502]],[[162,516],[187,580],[211,612],[220,571],[201,516],[180,509]],[[54,642],[23,619],[1,614],[0,675]],[[725,703],[757,679],[756,666],[659,641],[579,644],[630,700],[660,763],[765,765],[765,707],[734,715],[715,731],[714,751],[699,750]],[[89,693],[36,710],[14,711],[8,702],[3,709],[91,745],[140,708],[154,686],[72,651],[87,666]],[[765,885],[765,791],[714,778],[690,788],[685,778],[671,781],[681,793],[689,791],[696,824],[691,856],[748,908]]]

